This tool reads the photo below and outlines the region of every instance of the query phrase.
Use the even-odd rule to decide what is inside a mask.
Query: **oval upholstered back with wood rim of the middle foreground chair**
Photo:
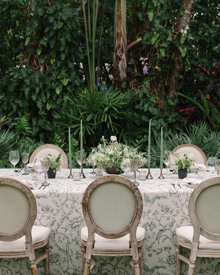
[[[107,175],[94,180],[86,189],[82,211],[89,237],[120,238],[135,233],[143,201],[137,186],[125,177]]]

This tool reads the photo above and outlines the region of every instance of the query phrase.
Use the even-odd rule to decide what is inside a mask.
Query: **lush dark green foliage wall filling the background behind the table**
[[[1,131],[8,131],[7,128],[14,131],[13,142],[20,152],[31,154],[43,143],[56,144],[68,152],[70,126],[75,154],[81,118],[87,151],[98,144],[102,135],[117,135],[119,142],[140,146],[145,152],[149,119],[152,119],[152,155],[158,166],[160,127],[164,126],[167,140],[164,149],[190,142],[183,133],[196,128],[194,125],[185,129],[184,112],[178,113],[179,110],[196,107],[196,112],[194,107],[189,110],[194,112],[194,118],[207,119],[209,125],[219,131],[220,74],[215,60],[220,51],[219,1],[195,0],[186,34],[176,32],[178,19],[184,14],[179,1],[128,0],[126,3],[127,44],[137,38],[142,41],[128,49],[128,91],[119,92],[111,88],[114,2],[99,2],[97,22],[93,22],[96,40],[92,38],[93,24],[90,24],[91,35],[88,33],[86,39],[83,9],[78,0],[0,2],[0,117],[9,117]],[[91,5],[90,23],[93,7]],[[86,7],[85,13],[88,16]],[[93,64],[99,64],[93,84],[100,78],[104,90],[95,87],[91,92],[87,87],[88,56],[95,58]],[[148,74],[143,73],[140,57],[148,58]],[[181,66],[177,68],[177,64]],[[177,72],[176,92],[185,98],[169,97],[171,79]],[[105,85],[109,89],[106,90]],[[197,103],[189,106],[193,98]],[[213,130],[204,133],[210,135],[208,141],[212,144],[215,138],[220,142]],[[204,140],[191,142],[198,143],[206,154],[219,155],[214,148],[213,151],[202,148]],[[1,154],[4,158],[5,153]]]

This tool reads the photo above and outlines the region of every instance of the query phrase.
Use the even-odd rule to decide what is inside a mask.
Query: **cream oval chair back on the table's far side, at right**
[[[177,146],[172,153],[181,153],[181,154],[188,154],[188,153],[193,153],[196,157],[196,163],[201,163],[206,165],[207,163],[207,158],[203,151],[198,148],[195,145],[192,144],[182,144]]]

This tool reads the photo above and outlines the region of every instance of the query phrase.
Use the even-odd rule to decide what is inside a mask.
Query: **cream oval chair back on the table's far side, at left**
[[[59,154],[61,154],[61,162],[62,162],[61,168],[68,168],[68,160],[67,160],[66,154],[61,148],[53,144],[41,145],[35,151],[33,151],[33,154],[30,157],[30,163],[34,162],[36,158],[44,159],[45,154],[52,154],[52,155],[55,155],[56,157]]]

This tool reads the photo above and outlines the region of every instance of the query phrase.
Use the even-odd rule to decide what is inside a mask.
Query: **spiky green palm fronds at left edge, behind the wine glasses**
[[[13,131],[2,129],[2,126],[7,123],[8,118],[3,116],[0,119],[0,156],[1,160],[8,159],[9,151],[15,144],[15,133]]]

